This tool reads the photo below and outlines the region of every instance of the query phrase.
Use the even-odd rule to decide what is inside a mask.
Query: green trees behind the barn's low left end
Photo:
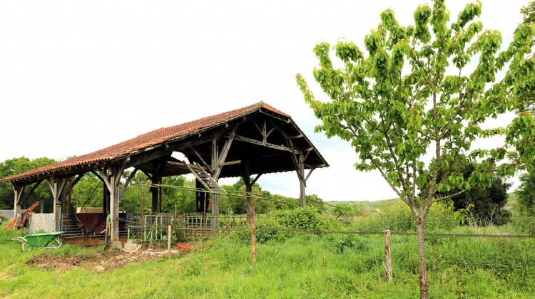
[[[26,157],[8,159],[0,163],[0,177],[11,177],[15,174],[27,172],[31,169],[44,167],[46,165],[54,164],[56,162],[56,160],[47,157],[36,158],[33,160]],[[29,192],[30,189],[31,186],[26,187],[24,194],[26,194],[26,192]],[[0,209],[13,209],[14,196],[15,195],[11,184],[0,184]],[[39,187],[34,190],[28,200],[41,201],[41,206],[43,206],[44,212],[49,212],[54,209],[52,193],[49,184],[46,184],[46,182],[41,182],[41,184],[39,184]],[[25,204],[29,206],[32,203],[26,202]],[[24,206],[22,208],[24,209]],[[41,211],[40,209],[40,207],[37,207],[36,209],[34,209],[34,211],[39,212]]]

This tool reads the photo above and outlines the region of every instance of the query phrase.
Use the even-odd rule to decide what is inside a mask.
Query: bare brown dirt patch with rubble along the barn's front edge
[[[104,238],[73,238],[64,240],[72,246],[83,246],[86,248],[103,248]],[[121,243],[126,242],[126,238],[121,238]],[[96,273],[123,268],[124,266],[142,261],[157,261],[168,256],[167,249],[164,248],[143,248],[134,253],[126,253],[118,250],[106,250],[98,252],[87,252],[76,256],[56,256],[44,252],[41,256],[34,256],[28,262],[29,265],[39,268],[54,268],[68,270],[71,268],[86,268]],[[173,249],[173,256],[185,254],[184,250]]]

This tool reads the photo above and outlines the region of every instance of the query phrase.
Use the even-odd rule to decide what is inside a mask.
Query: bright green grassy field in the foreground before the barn
[[[5,226],[5,224],[4,224]],[[348,230],[351,228],[348,227]],[[458,228],[510,234],[507,228]],[[384,281],[382,236],[294,234],[258,243],[235,234],[203,250],[140,253],[65,245],[23,252],[0,230],[0,298],[417,298],[416,242],[392,236],[394,281]],[[128,263],[118,261],[129,260]],[[432,298],[534,298],[535,240],[428,238]],[[111,267],[110,265],[115,265]]]

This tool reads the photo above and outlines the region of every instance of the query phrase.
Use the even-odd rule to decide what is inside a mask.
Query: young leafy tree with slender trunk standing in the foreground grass
[[[331,61],[329,43],[315,46],[320,67],[313,75],[329,96],[327,103],[315,100],[305,79],[297,75],[305,102],[322,120],[316,132],[351,142],[360,158],[356,169],[379,171],[409,206],[417,231],[421,298],[429,298],[427,214],[434,202],[455,195],[437,192],[463,192],[477,184],[488,187],[493,171],[504,177],[514,174],[516,167],[531,167],[535,141],[530,113],[519,115],[506,130],[481,127],[489,117],[514,109],[515,92],[532,87],[535,63],[526,57],[534,28],[520,25],[514,41],[498,53],[501,33],[484,31],[482,23],[474,21],[481,14],[481,2],[467,4],[454,22],[449,22],[444,1],[433,2],[432,8],[421,5],[414,11],[414,26],[400,26],[390,9],[382,12],[377,29],[365,37],[367,56],[355,43],[339,41],[333,50],[341,68]],[[473,69],[467,65],[474,60],[479,63],[473,72],[464,74]],[[496,80],[506,65],[504,78]],[[505,148],[469,152],[478,137],[503,134],[519,151],[515,164],[498,166]],[[428,152],[434,154],[434,162],[426,167]],[[452,169],[479,156],[484,160],[468,180]],[[442,179],[439,169],[447,169]],[[424,190],[422,196],[417,196],[419,190]]]

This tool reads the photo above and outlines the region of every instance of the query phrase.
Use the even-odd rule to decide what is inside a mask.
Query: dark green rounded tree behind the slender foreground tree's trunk
[[[468,181],[470,175],[476,171],[477,164],[469,163],[464,165],[464,167],[456,165],[453,169],[454,172],[462,174],[464,181]],[[444,171],[439,170],[439,180],[443,176]],[[500,177],[494,177],[489,187],[476,185],[465,192],[460,192],[461,190],[458,187],[454,187],[449,192],[446,190],[437,192],[437,196],[444,197],[457,194],[451,198],[455,211],[467,209],[469,205],[472,205],[469,213],[472,215],[474,221],[479,224],[501,225],[505,224],[511,217],[511,213],[504,209],[508,197],[507,189],[511,185],[511,183],[504,182]],[[421,194],[422,192],[420,192]]]

